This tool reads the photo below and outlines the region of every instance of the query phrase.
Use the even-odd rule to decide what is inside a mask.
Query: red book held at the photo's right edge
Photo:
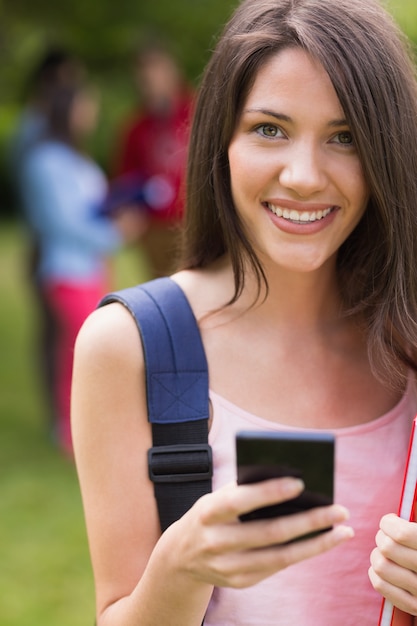
[[[417,416],[413,420],[407,463],[401,491],[398,515],[410,522],[416,521],[415,508],[417,499]],[[411,626],[412,617],[395,608],[391,602],[382,600],[378,626]]]

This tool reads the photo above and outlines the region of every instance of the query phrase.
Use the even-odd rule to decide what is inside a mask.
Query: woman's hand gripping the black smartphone
[[[294,498],[302,489],[302,482],[293,478],[226,486],[200,498],[169,527],[157,551],[166,546],[167,562],[196,582],[243,588],[353,537],[353,529],[341,525],[348,511],[340,505],[275,519],[239,520],[243,513]],[[293,541],[330,526],[330,531]]]

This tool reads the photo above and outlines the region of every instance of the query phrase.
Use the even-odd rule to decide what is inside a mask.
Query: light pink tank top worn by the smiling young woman
[[[236,480],[238,430],[294,430],[238,408],[211,392],[213,489]],[[417,398],[410,382],[382,417],[336,436],[335,501],[350,510],[355,537],[243,590],[215,588],[205,626],[376,626],[381,597],[368,579],[382,515],[397,512]],[[296,429],[297,430],[297,429]],[[303,431],[305,429],[298,429]]]

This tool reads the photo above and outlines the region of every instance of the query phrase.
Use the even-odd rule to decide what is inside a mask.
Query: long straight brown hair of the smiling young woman
[[[417,370],[417,86],[405,37],[377,0],[245,0],[226,25],[199,91],[191,134],[183,267],[230,254],[235,301],[251,263],[266,278],[235,211],[228,147],[257,70],[301,47],[328,72],[370,188],[338,253],[346,311],[367,322],[371,362]],[[395,377],[395,376],[394,376]]]

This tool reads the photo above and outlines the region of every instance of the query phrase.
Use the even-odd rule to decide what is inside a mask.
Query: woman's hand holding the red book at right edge
[[[373,587],[394,606],[417,615],[417,523],[384,515],[375,539],[368,572]]]

